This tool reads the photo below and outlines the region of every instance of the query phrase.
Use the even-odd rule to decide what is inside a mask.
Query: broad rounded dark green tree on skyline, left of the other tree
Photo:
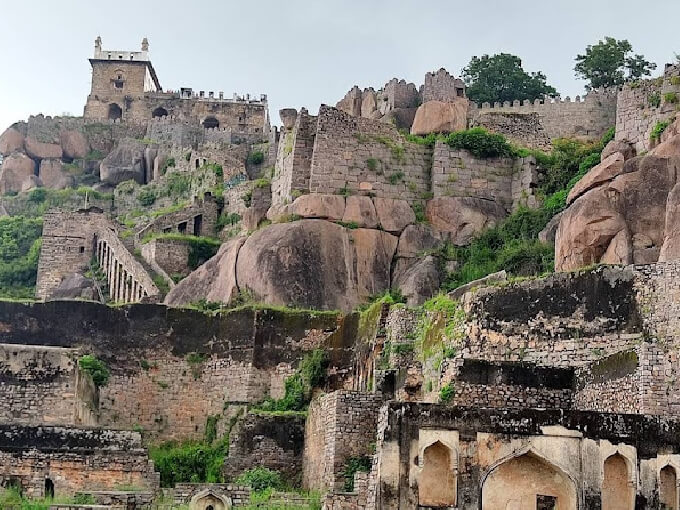
[[[527,73],[522,60],[509,53],[472,57],[463,69],[467,96],[477,103],[524,101],[554,96],[557,91],[548,85],[541,72]]]

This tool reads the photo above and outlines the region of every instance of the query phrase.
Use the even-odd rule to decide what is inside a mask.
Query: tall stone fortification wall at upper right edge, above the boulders
[[[632,143],[638,153],[650,148],[650,135],[657,123],[677,115],[680,78],[670,74],[621,89],[616,103],[616,140]]]

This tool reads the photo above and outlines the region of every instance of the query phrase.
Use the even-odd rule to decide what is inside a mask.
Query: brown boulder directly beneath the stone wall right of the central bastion
[[[482,198],[437,197],[427,203],[426,216],[432,228],[463,246],[503,219],[506,211],[496,202]]]

